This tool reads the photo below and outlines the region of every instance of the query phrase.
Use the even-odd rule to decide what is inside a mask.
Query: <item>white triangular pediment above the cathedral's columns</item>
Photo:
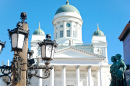
[[[86,58],[86,59],[104,59],[104,56],[100,56],[88,51],[80,50],[74,47],[68,47],[56,51],[54,58]]]

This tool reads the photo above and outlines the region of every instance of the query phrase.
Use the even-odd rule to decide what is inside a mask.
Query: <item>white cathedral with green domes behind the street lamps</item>
[[[109,86],[107,40],[99,26],[92,33],[91,43],[83,43],[82,17],[68,1],[56,10],[52,23],[54,40],[58,43],[54,59],[50,62],[53,69],[47,79],[33,77],[30,86]],[[37,59],[39,65],[44,65],[44,62],[37,43],[44,39],[45,32],[39,24],[31,39],[32,58]],[[44,75],[42,69],[39,75]]]

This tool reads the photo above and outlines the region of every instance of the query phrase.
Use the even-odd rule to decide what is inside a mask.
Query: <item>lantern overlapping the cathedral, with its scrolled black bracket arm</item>
[[[47,34],[46,35],[47,39],[44,39],[42,42],[39,42],[39,46],[41,47],[41,58],[43,61],[45,61],[45,66],[39,66],[39,65],[33,65],[34,59],[30,59],[28,60],[28,63],[30,63],[28,65],[28,83],[30,84],[30,80],[33,76],[37,77],[37,78],[42,78],[42,79],[46,79],[50,76],[50,69],[52,69],[52,67],[49,67],[48,65],[50,64],[50,61],[53,60],[53,56],[54,56],[54,51],[55,48],[57,47],[57,43],[56,41],[52,41],[51,35]],[[31,52],[31,53],[30,53]],[[30,51],[30,55],[32,55],[32,51]],[[46,76],[39,76],[37,73],[38,71],[36,71],[36,69],[45,69],[45,75]],[[35,73],[31,73],[32,70],[35,70]]]

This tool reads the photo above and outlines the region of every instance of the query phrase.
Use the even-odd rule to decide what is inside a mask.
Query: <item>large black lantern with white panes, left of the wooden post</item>
[[[25,38],[28,37],[28,31],[22,29],[22,23],[17,23],[17,28],[8,30],[11,38],[12,51],[22,51]]]

